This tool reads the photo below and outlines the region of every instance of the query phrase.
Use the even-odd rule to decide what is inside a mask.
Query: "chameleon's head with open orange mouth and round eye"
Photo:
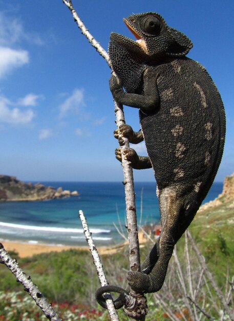
[[[112,32],[111,42],[128,49],[138,61],[154,63],[165,56],[181,57],[193,47],[183,33],[168,27],[158,13],[133,14],[123,21],[137,40]]]

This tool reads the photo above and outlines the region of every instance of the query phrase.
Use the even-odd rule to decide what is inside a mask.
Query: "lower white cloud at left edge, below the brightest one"
[[[20,110],[13,107],[12,103],[6,97],[0,96],[0,122],[8,124],[29,124],[35,113],[31,109]]]

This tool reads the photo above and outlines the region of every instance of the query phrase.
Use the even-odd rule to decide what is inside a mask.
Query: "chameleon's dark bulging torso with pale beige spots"
[[[219,167],[225,136],[220,95],[208,73],[186,59],[157,69],[160,108],[140,112],[158,188],[178,183],[206,194]]]

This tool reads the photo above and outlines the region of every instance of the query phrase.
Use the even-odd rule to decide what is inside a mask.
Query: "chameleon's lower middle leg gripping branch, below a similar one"
[[[152,168],[152,164],[150,161],[150,157],[148,156],[139,156],[133,148],[125,148],[123,150],[124,158],[131,162],[131,166],[134,169],[146,169]],[[115,157],[121,162],[121,150],[120,148],[116,148]]]

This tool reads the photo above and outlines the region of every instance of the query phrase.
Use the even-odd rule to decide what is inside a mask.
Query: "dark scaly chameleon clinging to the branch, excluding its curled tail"
[[[134,168],[152,164],[157,180],[162,232],[141,272],[127,276],[132,289],[148,293],[162,287],[174,246],[215,178],[225,113],[209,74],[185,57],[193,45],[184,34],[157,13],[131,15],[124,22],[138,42],[111,34],[109,53],[117,77],[111,77],[110,89],[117,102],[140,109],[149,158],[142,160],[131,149],[125,157]],[[132,143],[142,139],[128,125],[115,132],[121,136]],[[116,157],[120,159],[119,150]]]

